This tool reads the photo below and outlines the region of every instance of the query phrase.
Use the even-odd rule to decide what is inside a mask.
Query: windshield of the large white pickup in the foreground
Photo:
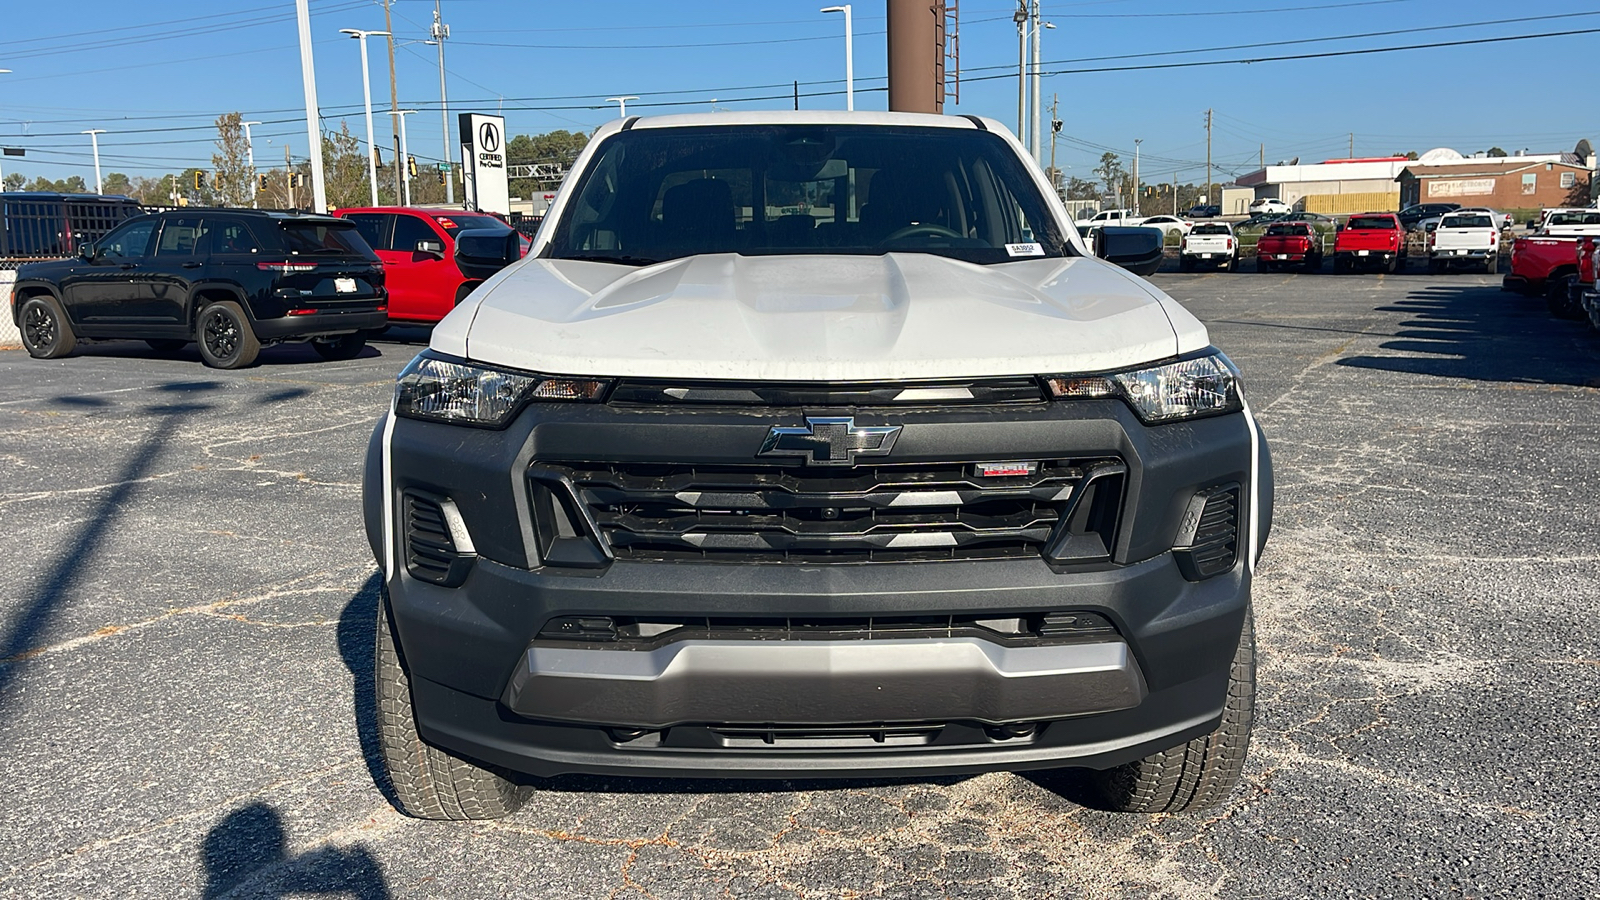
[[[962,128],[739,125],[610,138],[573,186],[557,259],[702,253],[1064,256],[1016,154]]]

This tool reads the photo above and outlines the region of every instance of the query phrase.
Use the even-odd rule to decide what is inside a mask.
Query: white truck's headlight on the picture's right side
[[[1243,408],[1238,370],[1221,352],[1110,375],[1045,378],[1051,396],[1122,397],[1147,424]]]

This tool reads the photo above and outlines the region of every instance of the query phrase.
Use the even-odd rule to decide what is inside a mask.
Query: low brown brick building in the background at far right
[[[1570,160],[1499,157],[1445,165],[1408,165],[1400,183],[1400,205],[1461,203],[1493,210],[1589,207],[1590,170]]]

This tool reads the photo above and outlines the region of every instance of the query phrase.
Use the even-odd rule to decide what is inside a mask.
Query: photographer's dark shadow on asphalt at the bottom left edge
[[[200,854],[206,878],[203,900],[291,894],[339,894],[358,900],[389,897],[382,868],[362,844],[318,847],[291,857],[283,822],[264,802],[227,814],[206,833]]]

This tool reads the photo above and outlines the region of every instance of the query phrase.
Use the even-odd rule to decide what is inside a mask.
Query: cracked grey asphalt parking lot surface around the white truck
[[[405,818],[358,476],[419,344],[6,351],[0,895],[1600,895],[1600,340],[1485,275],[1154,280],[1245,370],[1278,472],[1222,807],[562,778],[509,820]]]

